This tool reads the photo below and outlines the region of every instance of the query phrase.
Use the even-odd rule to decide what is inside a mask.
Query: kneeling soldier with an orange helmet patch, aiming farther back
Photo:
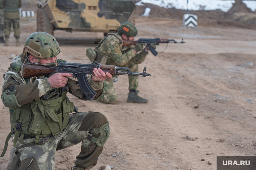
[[[102,39],[98,46],[93,50],[88,48],[86,55],[93,62],[101,64],[118,65],[128,67],[132,72],[138,72],[138,64],[142,63],[147,54],[149,47],[143,47],[143,43],[130,46],[122,46],[123,40],[134,40],[137,35],[136,27],[129,22],[122,23],[117,33],[109,33],[107,37]],[[150,44],[154,49],[155,44]],[[95,53],[96,52],[96,53]],[[95,53],[95,54],[94,54]],[[129,76],[129,96],[127,102],[130,103],[147,103],[147,99],[143,99],[138,95],[139,78],[137,76]],[[100,99],[101,102],[107,104],[115,104],[117,95],[111,82],[104,81],[104,94]]]

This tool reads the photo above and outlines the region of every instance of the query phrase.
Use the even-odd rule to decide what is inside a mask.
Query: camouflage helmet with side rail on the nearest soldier
[[[24,56],[27,53],[36,57],[40,64],[40,58],[56,57],[60,53],[60,47],[52,35],[45,32],[35,32],[25,42],[23,48]]]

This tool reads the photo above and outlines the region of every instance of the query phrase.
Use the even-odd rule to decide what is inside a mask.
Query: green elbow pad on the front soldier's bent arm
[[[8,108],[21,107],[14,93],[15,93],[15,90],[14,91],[6,90],[4,91],[4,93],[2,93],[1,98],[5,107],[8,107]]]

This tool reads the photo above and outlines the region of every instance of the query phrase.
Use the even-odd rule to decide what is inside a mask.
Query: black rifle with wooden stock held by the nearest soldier
[[[101,68],[102,71],[108,72],[111,75],[116,75],[113,82],[118,80],[118,75],[129,75],[129,76],[151,76],[146,72],[147,67],[144,67],[142,73],[131,72],[128,67],[119,67],[116,65],[106,65],[100,63],[90,63],[90,64],[79,64],[79,63],[66,63],[60,62],[55,67],[45,67],[41,65],[34,64],[24,64],[23,65],[23,78],[30,78],[34,76],[47,75],[53,73],[70,73],[73,74],[74,78],[77,78],[78,83],[86,97],[92,100],[96,92],[92,90],[89,86],[86,74],[93,74],[94,68]]]

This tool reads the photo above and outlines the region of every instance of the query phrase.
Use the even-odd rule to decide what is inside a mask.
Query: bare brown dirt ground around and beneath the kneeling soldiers
[[[119,76],[114,84],[118,103],[69,98],[80,112],[103,113],[110,124],[110,136],[94,170],[102,165],[113,169],[216,169],[216,156],[256,155],[256,30],[201,23],[196,28],[182,26],[181,20],[161,18],[135,19],[137,38],[170,38],[186,44],[157,46],[139,64],[147,66],[151,77],[139,79],[139,95],[147,104],[127,103],[128,77]],[[35,18],[21,19],[21,44],[35,32]],[[60,43],[59,58],[88,63],[86,48],[96,44],[101,33],[55,31]],[[136,38],[136,39],[137,39]],[[93,41],[91,41],[93,42]],[[0,73],[23,47],[0,44]],[[165,49],[165,50],[164,50]],[[2,86],[3,79],[0,79]],[[2,108],[0,144],[10,131],[8,109]],[[187,136],[187,137],[186,137]],[[12,146],[0,158],[5,169]],[[56,152],[55,169],[74,166],[81,145]],[[201,160],[204,161],[201,161]]]

